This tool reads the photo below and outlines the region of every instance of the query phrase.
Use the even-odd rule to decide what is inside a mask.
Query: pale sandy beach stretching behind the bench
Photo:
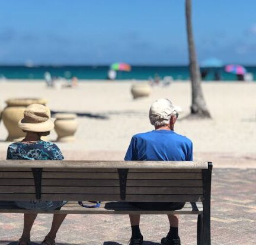
[[[183,112],[175,131],[194,143],[195,159],[218,166],[256,166],[256,83],[203,83],[212,120],[183,119],[191,102],[190,83],[153,87],[149,97],[133,100],[132,81],[87,81],[76,89],[47,89],[40,81],[0,83],[0,107],[12,97],[43,97],[53,111],[104,116],[78,118],[76,141],[58,143],[67,159],[122,159],[133,134],[152,130],[148,110],[153,101],[168,98]],[[5,158],[7,130],[0,123],[0,158]],[[55,141],[56,133],[49,136]]]

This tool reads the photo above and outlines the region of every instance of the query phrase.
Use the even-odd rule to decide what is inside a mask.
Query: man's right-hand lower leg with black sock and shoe
[[[168,215],[170,229],[167,237],[161,240],[163,245],[180,245],[180,237],[178,236],[179,215]]]

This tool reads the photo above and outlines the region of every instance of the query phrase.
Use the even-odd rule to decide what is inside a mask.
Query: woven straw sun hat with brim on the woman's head
[[[48,107],[42,104],[30,104],[24,111],[24,118],[18,122],[24,131],[47,132],[54,128]]]

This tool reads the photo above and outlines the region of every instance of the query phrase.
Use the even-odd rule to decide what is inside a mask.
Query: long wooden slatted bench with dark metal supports
[[[208,245],[211,177],[210,162],[0,161],[0,213],[196,214],[197,244]],[[15,207],[15,200],[68,203],[61,210],[35,211]],[[101,206],[83,208],[79,200]],[[186,204],[177,211],[141,210],[129,201]]]

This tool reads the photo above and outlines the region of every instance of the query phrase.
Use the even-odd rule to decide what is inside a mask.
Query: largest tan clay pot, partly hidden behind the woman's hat
[[[44,99],[9,99],[7,107],[2,112],[2,120],[5,128],[8,130],[8,137],[6,141],[21,141],[25,137],[23,130],[18,128],[18,122],[23,119],[24,110],[30,104],[47,103]],[[46,140],[46,138],[44,138]]]

